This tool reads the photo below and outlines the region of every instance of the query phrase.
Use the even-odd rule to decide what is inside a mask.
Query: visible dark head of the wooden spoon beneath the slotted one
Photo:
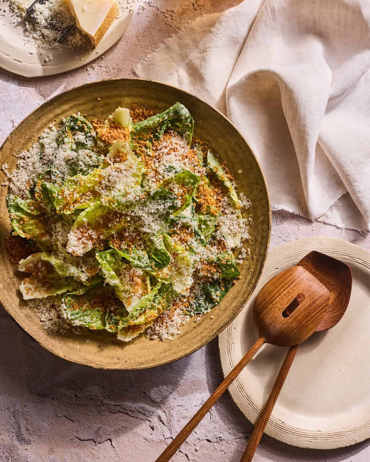
[[[298,265],[311,273],[330,292],[329,306],[316,332],[332,328],[342,319],[350,301],[351,267],[343,261],[315,250],[303,257]]]

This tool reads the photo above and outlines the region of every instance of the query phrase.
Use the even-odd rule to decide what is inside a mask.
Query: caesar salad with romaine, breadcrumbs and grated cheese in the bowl
[[[73,114],[3,166],[7,248],[46,329],[173,338],[240,278],[250,202],[193,128],[181,103]]]

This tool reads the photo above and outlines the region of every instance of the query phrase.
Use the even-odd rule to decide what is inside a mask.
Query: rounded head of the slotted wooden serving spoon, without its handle
[[[321,323],[329,298],[327,288],[303,267],[277,274],[262,287],[254,301],[253,320],[259,336],[277,346],[301,343]],[[283,317],[292,302],[297,304],[296,309]]]

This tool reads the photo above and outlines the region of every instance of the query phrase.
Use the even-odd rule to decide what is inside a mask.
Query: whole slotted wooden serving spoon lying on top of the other
[[[271,343],[278,346],[295,346],[296,349],[298,343],[313,334],[324,319],[329,299],[327,288],[302,266],[295,266],[277,274],[262,287],[253,305],[253,319],[259,339],[166,447],[156,462],[166,462],[171,459],[262,345]]]

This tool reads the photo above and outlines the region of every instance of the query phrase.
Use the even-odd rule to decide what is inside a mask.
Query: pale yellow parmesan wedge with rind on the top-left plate
[[[68,5],[77,27],[90,38],[94,47],[119,13],[116,0],[68,0]]]

